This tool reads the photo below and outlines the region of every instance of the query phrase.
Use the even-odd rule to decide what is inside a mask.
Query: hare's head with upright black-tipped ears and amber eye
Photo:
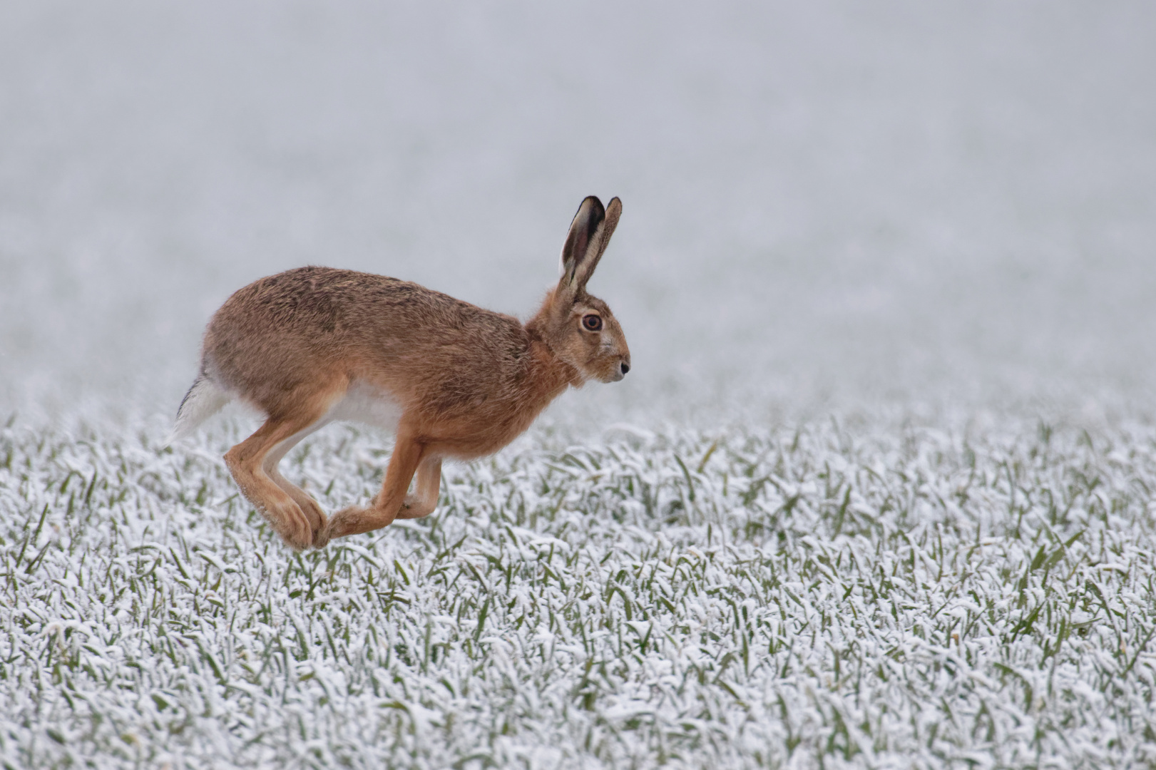
[[[615,198],[608,208],[591,195],[578,207],[562,247],[562,279],[547,301],[541,333],[556,356],[584,377],[614,383],[630,371],[630,348],[605,302],[586,294],[622,214]]]

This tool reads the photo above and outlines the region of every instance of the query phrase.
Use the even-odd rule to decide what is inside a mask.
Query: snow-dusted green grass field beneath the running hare
[[[3,767],[1156,762],[1149,427],[539,436],[302,554],[227,434],[0,435]]]

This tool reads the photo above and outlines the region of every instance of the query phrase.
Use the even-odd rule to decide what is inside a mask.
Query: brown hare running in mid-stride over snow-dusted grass
[[[586,294],[621,214],[617,198],[605,209],[594,197],[581,202],[562,247],[562,277],[525,324],[354,271],[302,267],[250,283],[209,320],[172,440],[232,399],[267,415],[224,459],[240,491],[294,548],[432,513],[443,458],[496,452],[566,387],[616,382],[630,370],[622,327]],[[334,420],[392,429],[397,444],[370,505],[326,518],[277,464]]]

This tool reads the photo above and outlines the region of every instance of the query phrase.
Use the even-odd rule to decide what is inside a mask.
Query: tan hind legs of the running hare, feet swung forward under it
[[[288,417],[269,417],[255,434],[224,456],[229,472],[240,487],[242,494],[294,548],[312,545],[314,533],[320,531],[326,521],[320,508],[304,491],[294,487],[299,496],[309,499],[312,505],[301,505],[296,499],[297,495],[291,495],[277,483],[276,480],[280,480],[292,487],[277,472],[276,461],[297,440],[312,432],[311,429],[319,427],[318,423],[321,423],[325,412],[326,409],[319,405],[317,408],[302,410]],[[297,440],[294,440],[295,437]]]

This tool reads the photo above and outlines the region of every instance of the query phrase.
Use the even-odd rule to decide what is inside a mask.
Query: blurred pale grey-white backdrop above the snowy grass
[[[304,264],[526,317],[591,193],[635,369],[555,415],[1147,410],[1154,40],[1150,2],[10,0],[0,417],[171,414]]]

